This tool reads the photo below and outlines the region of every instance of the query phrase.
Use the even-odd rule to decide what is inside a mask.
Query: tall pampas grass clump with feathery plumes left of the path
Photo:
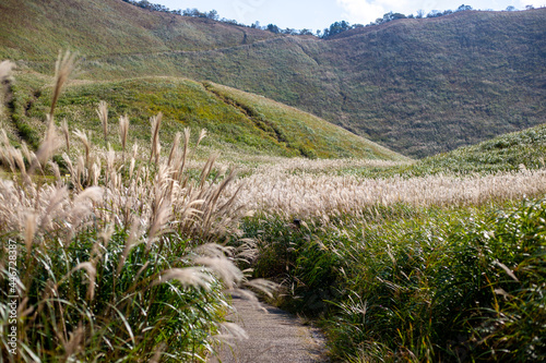
[[[59,58],[56,97],[74,63],[71,53]],[[11,146],[5,132],[0,138],[1,165],[10,171],[0,180],[2,360],[204,361],[228,308],[223,290],[271,288],[235,266],[248,251],[214,244],[237,233],[237,193],[225,193],[235,172],[215,171],[213,155],[195,178],[188,170],[189,130],[181,146],[162,156],[158,118],[153,159],[136,145],[126,158],[122,119],[121,155],[94,147],[86,132],[71,134],[63,123],[67,149],[78,152],[54,160],[63,145],[55,104],[36,153]],[[107,109],[99,109],[106,141]],[[16,286],[9,292],[13,244]],[[8,353],[9,295],[19,297],[16,354]]]

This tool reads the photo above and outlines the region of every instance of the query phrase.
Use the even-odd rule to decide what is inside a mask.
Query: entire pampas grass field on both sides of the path
[[[76,69],[59,56],[39,144],[0,131],[0,362],[203,362],[241,335],[225,291],[272,297],[269,279],[321,317],[335,359],[544,358],[546,203],[529,199],[544,164],[415,177],[414,161],[218,161],[195,152],[204,130],[162,143],[161,112],[139,146],[104,101],[97,146],[56,119]]]

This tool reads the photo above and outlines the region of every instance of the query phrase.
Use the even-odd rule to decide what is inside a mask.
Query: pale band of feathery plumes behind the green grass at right
[[[428,176],[366,179],[316,173],[339,166],[384,165],[385,161],[287,160],[258,168],[232,185],[242,187],[237,203],[256,211],[288,216],[328,216],[358,213],[375,206],[405,203],[413,206],[480,205],[546,192],[546,170],[520,170],[489,176]],[[297,172],[295,172],[297,171]]]

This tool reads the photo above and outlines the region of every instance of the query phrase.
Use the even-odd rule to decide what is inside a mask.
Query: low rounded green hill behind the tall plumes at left
[[[12,86],[13,136],[37,146],[45,131],[52,88],[48,78],[26,73]],[[213,83],[202,84],[176,77],[143,77],[122,81],[73,82],[57,105],[57,120],[73,129],[92,130],[92,141],[105,146],[96,113],[104,100],[109,109],[110,132],[116,135],[118,119],[130,117],[135,141],[147,144],[152,116],[163,112],[162,141],[168,145],[185,128],[206,129],[205,141],[213,148],[236,153],[321,158],[357,157],[404,159],[384,147],[309,113],[262,96],[238,92]],[[10,111],[10,108],[8,109]],[[120,147],[117,136],[108,140]]]

